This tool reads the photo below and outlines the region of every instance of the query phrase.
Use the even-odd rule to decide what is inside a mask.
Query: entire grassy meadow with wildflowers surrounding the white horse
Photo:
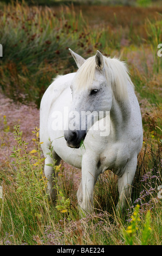
[[[0,245],[161,245],[162,8],[0,7]],[[56,205],[46,193],[39,107],[56,75],[76,71],[68,48],[84,58],[99,50],[129,66],[144,142],[122,217],[115,211],[118,180],[109,170],[95,186],[93,215],[79,218],[79,169],[54,162]]]

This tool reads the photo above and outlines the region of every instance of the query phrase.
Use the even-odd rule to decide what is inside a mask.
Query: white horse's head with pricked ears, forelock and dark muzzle
[[[90,127],[110,111],[112,87],[105,72],[104,57],[99,51],[87,60],[72,50],[70,52],[79,69],[70,86],[72,105],[64,138],[69,147],[79,148]]]

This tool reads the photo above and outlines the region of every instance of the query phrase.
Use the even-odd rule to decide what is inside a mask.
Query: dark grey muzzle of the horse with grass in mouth
[[[79,149],[81,141],[85,139],[87,131],[68,130],[64,131],[64,138],[70,148]]]

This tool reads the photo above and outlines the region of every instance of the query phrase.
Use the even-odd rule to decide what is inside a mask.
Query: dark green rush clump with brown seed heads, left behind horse
[[[76,48],[77,31],[83,25],[81,13],[75,17],[68,8],[62,9],[58,17],[48,7],[5,5],[0,31],[3,91],[12,99],[35,101],[39,105],[51,79],[59,72],[70,72],[73,62],[68,48]]]

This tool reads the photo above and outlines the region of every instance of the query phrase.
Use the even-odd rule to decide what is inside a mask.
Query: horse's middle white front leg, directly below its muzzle
[[[94,160],[89,161],[86,157],[82,159],[82,180],[77,192],[77,199],[80,205],[80,214],[90,213],[93,208],[93,191],[98,179],[98,169]]]

